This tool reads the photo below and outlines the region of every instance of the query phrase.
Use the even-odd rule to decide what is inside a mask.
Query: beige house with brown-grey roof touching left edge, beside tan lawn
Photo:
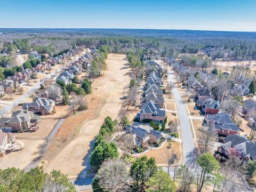
[[[12,129],[12,131],[27,130],[35,127],[40,122],[40,116],[28,110],[17,110],[12,112],[10,118],[0,119],[0,128]]]

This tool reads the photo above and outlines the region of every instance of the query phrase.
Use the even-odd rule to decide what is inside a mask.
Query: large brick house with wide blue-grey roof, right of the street
[[[219,135],[239,134],[239,126],[232,121],[229,114],[223,112],[215,115],[208,114],[206,115],[206,123],[212,126],[212,129]]]

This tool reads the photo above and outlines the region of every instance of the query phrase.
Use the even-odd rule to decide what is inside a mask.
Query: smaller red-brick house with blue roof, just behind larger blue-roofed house
[[[202,110],[205,114],[218,114],[220,110],[220,102],[213,98],[198,100],[197,106],[202,107]]]

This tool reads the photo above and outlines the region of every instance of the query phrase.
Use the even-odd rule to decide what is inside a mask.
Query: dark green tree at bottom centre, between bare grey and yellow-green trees
[[[130,168],[130,175],[135,181],[134,189],[139,191],[143,190],[146,182],[150,177],[153,177],[156,171],[155,158],[151,157],[148,159],[147,156],[142,156],[135,159]]]

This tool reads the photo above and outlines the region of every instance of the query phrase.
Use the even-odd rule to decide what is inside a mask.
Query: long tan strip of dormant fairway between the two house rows
[[[119,69],[125,67],[126,63],[127,60],[123,54],[108,55],[108,70],[105,72],[105,76],[95,79],[92,83],[92,94],[86,96],[89,110],[67,118],[56,135],[57,138],[69,137],[68,132],[64,132],[63,129],[75,129],[74,126],[80,126],[81,129],[78,129],[77,137],[68,143],[53,159],[46,156],[49,159],[46,171],[50,172],[52,169],[57,169],[73,176],[85,169],[89,158],[88,152],[92,147],[94,138],[99,133],[103,119],[108,115],[116,118],[121,108],[122,100],[120,98],[124,87],[129,84],[130,77],[127,75],[129,69]],[[78,123],[75,121],[78,121]],[[81,125],[79,125],[79,122],[81,122]],[[58,142],[53,141],[49,149],[55,151],[55,144],[58,144]]]

